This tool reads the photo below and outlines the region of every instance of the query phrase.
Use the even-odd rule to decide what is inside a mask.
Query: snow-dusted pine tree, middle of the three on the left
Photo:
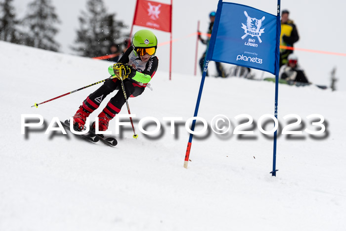
[[[58,51],[60,45],[55,41],[58,29],[54,25],[60,20],[51,0],[33,0],[28,7],[29,13],[23,19],[23,24],[29,28],[25,45]]]

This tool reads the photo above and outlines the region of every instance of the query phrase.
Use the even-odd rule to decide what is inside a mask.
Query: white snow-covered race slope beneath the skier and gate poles
[[[108,78],[110,62],[4,42],[0,50],[1,231],[345,230],[345,92],[279,86],[280,123],[295,113],[313,130],[305,117],[318,113],[327,131],[279,136],[279,171],[272,177],[272,139],[256,127],[253,139],[231,133],[236,115],[247,113],[257,122],[273,114],[274,83],[206,78],[198,115],[210,123],[223,114],[233,126],[227,135],[195,136],[185,169],[189,134],[182,125],[171,135],[163,117],[193,116],[200,77],[173,73],[169,81],[159,67],[154,91],[129,103],[136,131],[139,119],[152,116],[163,134],[133,139],[127,127],[119,144],[109,147],[70,133],[45,135],[44,126],[22,135],[21,115],[40,114],[46,126],[53,117],[72,116],[97,86],[30,106]],[[121,114],[127,113],[124,106]]]

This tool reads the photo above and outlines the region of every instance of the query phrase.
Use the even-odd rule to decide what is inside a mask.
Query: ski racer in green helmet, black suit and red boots
[[[149,30],[137,31],[132,37],[132,46],[125,51],[113,67],[108,68],[109,72],[114,72],[117,78],[106,81],[83,101],[73,117],[73,124],[81,130],[87,117],[100,106],[102,100],[114,90],[119,90],[97,116],[99,131],[106,131],[109,121],[120,112],[125,103],[120,79],[124,81],[128,98],[143,93],[159,64],[159,60],[155,56],[156,48],[157,38],[154,33]],[[95,128],[95,122],[92,127]]]

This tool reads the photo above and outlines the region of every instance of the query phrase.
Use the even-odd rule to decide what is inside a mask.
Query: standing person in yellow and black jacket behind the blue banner
[[[299,40],[299,34],[296,25],[293,20],[289,19],[290,12],[283,10],[281,13],[281,35],[280,35],[280,46],[293,47]],[[290,48],[280,48],[280,67],[287,64],[288,55],[293,53]]]

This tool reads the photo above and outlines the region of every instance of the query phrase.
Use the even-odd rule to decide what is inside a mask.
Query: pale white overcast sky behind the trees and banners
[[[14,0],[16,14],[22,17],[30,0]],[[61,44],[61,51],[73,53],[69,46],[73,45],[76,38],[76,29],[79,28],[78,16],[81,10],[86,8],[87,0],[52,0],[56,7],[61,24],[56,41]],[[135,0],[104,0],[108,13],[116,13],[116,19],[122,20],[130,26],[133,20]],[[170,3],[170,0],[160,0]],[[187,36],[197,29],[197,21],[201,21],[200,30],[206,32],[209,25],[209,12],[216,10],[218,0],[173,0],[173,40]],[[232,2],[250,5],[276,14],[276,0],[233,0]],[[344,19],[346,1],[344,0],[282,0],[281,9],[290,10],[290,18],[298,27],[301,39],[296,47],[346,53],[343,42],[346,32]],[[135,26],[134,31],[142,29]],[[155,32],[159,43],[169,41],[169,33]],[[198,58],[206,47],[199,43]],[[192,74],[194,71],[196,37],[188,37],[173,43],[173,72]],[[346,91],[346,80],[342,78],[346,73],[346,56],[318,54],[304,51],[296,51],[299,62],[305,69],[310,82],[330,85],[330,72],[337,67],[339,90]],[[159,69],[169,70],[169,46],[159,47],[157,56],[160,60]],[[181,58],[183,56],[183,59]],[[213,66],[211,71],[213,71]],[[198,70],[198,75],[200,71]],[[260,75],[260,73],[258,73]],[[271,76],[268,73],[264,77]]]

